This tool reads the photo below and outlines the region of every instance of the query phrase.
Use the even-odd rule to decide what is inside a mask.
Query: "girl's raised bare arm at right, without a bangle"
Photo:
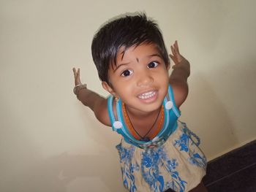
[[[173,88],[174,100],[179,108],[187,99],[189,87],[187,85],[187,77],[190,74],[190,64],[178,50],[178,42],[176,41],[171,47],[172,55],[170,58],[174,62],[173,72],[170,74],[169,82]]]

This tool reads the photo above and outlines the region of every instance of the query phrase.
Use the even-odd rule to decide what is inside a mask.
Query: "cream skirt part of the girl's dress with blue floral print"
[[[185,192],[189,190],[188,184],[191,180],[189,177],[194,177],[197,174],[198,176],[195,177],[199,177],[199,180],[203,177],[206,169],[206,158],[197,147],[199,142],[194,142],[191,135],[196,139],[197,136],[186,126],[182,126],[179,130],[176,137],[167,142],[168,145],[165,143],[161,146],[140,149],[125,143],[122,145],[121,142],[120,145],[116,146],[120,155],[125,188],[129,189],[130,192],[160,192],[168,188]],[[181,157],[176,158],[176,155],[179,154]],[[185,161],[187,161],[186,166],[183,165]],[[195,167],[189,169],[194,170],[193,172],[196,174],[185,176],[187,174],[183,174],[183,172],[187,172],[188,166]],[[198,170],[201,170],[200,173]]]

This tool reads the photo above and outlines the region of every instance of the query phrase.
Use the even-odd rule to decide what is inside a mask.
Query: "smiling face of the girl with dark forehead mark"
[[[118,50],[116,66],[110,65],[108,77],[111,86],[102,82],[103,87],[133,112],[158,110],[167,93],[167,68],[154,44]]]

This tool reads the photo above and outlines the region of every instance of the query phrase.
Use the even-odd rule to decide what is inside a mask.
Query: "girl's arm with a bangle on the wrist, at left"
[[[80,81],[80,69],[78,71],[73,68],[74,77],[75,77],[75,86],[77,86],[77,91],[75,94],[84,105],[90,107],[90,109],[94,112],[95,117],[106,126],[111,126],[110,119],[108,117],[108,100],[99,94],[94,93],[93,91],[86,88],[86,85],[82,85]],[[82,87],[79,88],[79,85]]]

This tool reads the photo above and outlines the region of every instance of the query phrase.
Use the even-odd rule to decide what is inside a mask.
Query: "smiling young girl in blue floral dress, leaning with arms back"
[[[108,99],[75,75],[74,93],[96,118],[121,134],[117,145],[129,191],[206,191],[206,158],[200,140],[178,120],[187,99],[189,62],[171,46],[173,71],[156,23],[146,15],[124,16],[102,26],[91,45]]]

